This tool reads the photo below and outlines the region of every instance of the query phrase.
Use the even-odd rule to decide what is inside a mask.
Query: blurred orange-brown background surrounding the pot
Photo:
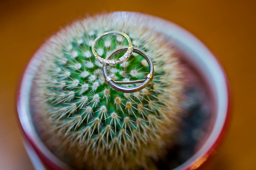
[[[73,19],[138,11],[177,23],[219,57],[232,92],[229,128],[203,169],[256,169],[256,1],[0,1],[0,169],[34,169],[19,135],[16,89],[29,58]]]

